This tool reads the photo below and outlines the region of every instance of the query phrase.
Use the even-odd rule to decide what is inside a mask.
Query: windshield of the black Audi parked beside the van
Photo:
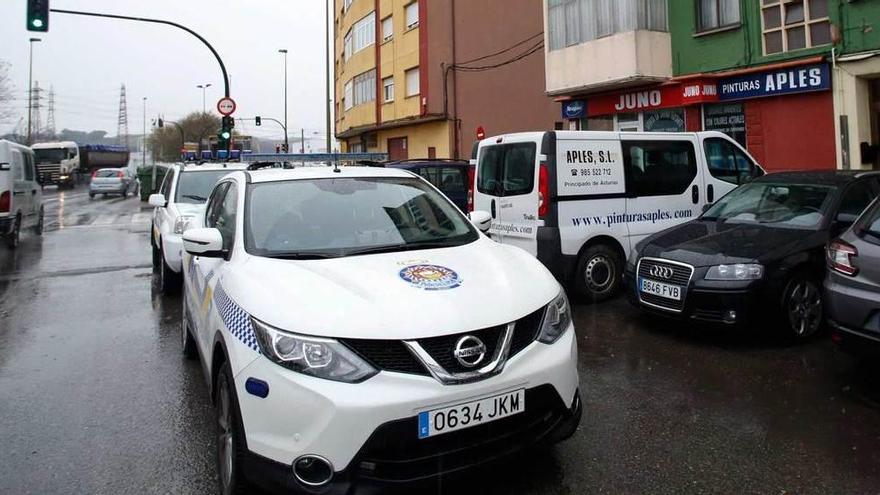
[[[746,184],[721,198],[702,219],[817,229],[833,192],[813,184]]]

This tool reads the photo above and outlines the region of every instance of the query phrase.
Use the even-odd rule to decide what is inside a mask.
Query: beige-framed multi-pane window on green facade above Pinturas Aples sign
[[[764,55],[831,43],[828,0],[761,0]]]

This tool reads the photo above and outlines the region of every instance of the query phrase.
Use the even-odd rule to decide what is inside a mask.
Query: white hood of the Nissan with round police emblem
[[[436,287],[431,272],[450,272]],[[543,307],[560,286],[534,257],[488,238],[465,246],[287,261],[247,256],[221,283],[247,313],[304,335],[415,339],[509,323]]]

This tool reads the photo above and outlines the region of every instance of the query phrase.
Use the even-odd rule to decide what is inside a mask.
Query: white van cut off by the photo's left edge
[[[0,140],[0,237],[14,249],[24,228],[43,233],[43,191],[34,152]]]

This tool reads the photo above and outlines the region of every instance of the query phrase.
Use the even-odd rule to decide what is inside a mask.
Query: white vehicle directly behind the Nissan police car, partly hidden
[[[150,195],[153,209],[150,246],[153,266],[159,272],[159,290],[174,293],[181,284],[183,242],[181,234],[205,210],[214,185],[225,175],[243,170],[241,164],[177,164],[165,174],[157,194]]]

